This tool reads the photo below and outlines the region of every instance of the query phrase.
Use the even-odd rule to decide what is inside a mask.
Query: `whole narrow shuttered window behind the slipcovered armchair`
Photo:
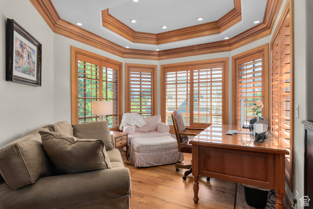
[[[125,64],[126,112],[156,115],[156,65]]]

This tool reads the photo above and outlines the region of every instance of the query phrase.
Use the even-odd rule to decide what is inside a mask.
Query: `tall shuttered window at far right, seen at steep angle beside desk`
[[[271,39],[270,131],[289,150],[285,155],[285,179],[293,192],[294,95],[293,95],[293,12],[287,1]]]

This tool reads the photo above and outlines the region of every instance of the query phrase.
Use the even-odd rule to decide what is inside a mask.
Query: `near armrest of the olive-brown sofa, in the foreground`
[[[16,190],[0,184],[0,196],[0,208],[129,208],[131,176],[128,168],[112,168],[41,177]]]

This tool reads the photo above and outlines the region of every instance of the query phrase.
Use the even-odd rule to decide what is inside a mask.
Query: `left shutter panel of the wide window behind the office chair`
[[[182,113],[185,125],[190,126],[190,69],[190,66],[165,69],[165,123],[168,125],[173,125],[171,114],[177,110]]]

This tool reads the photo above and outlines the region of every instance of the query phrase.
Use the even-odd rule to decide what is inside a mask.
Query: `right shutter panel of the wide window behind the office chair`
[[[222,67],[222,63],[192,66],[193,123],[222,124]]]

